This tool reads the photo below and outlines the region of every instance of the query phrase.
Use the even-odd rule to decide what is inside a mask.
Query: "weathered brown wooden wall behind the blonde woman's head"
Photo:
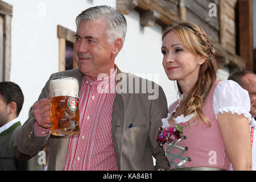
[[[209,35],[218,67],[236,71],[251,61],[240,56],[238,1],[251,0],[117,0],[117,9],[123,14],[138,11],[142,26],[159,23],[164,28],[181,20],[198,24]],[[216,16],[209,16],[210,3],[217,7]]]

